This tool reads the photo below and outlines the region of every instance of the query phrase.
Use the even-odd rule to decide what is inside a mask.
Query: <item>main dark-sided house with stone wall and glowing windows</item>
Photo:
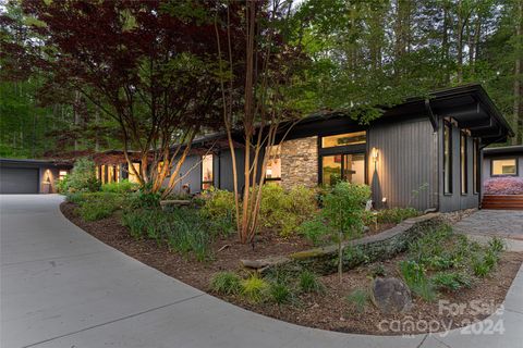
[[[283,134],[285,127],[282,128]],[[466,85],[411,98],[385,110],[369,125],[342,113],[305,117],[273,151],[266,181],[284,188],[315,187],[339,179],[372,187],[376,208],[414,207],[441,212],[479,207],[482,149],[513,136],[481,85]],[[221,135],[222,137],[222,135]],[[209,147],[220,135],[196,140]],[[242,144],[241,135],[235,137]],[[239,167],[245,149],[238,146]],[[180,186],[198,192],[209,186],[233,189],[228,147],[187,157]],[[262,173],[258,173],[262,175]],[[239,177],[239,186],[243,178]]]

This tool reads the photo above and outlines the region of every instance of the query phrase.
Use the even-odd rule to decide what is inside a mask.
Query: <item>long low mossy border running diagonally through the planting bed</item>
[[[350,240],[343,244],[343,268],[353,269],[365,262],[390,259],[404,251],[409,243],[434,228],[445,224],[441,213],[429,213],[408,219],[392,228],[377,235]],[[271,257],[260,260],[240,260],[242,266],[260,273],[271,271],[300,272],[307,269],[319,274],[331,274],[337,271],[338,246],[314,248]]]

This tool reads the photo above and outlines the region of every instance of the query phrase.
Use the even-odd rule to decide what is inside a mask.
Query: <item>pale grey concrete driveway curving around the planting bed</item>
[[[506,311],[491,318],[502,321],[502,335],[326,332],[248,312],[129,258],[64,219],[61,200],[0,196],[2,348],[521,347],[523,340],[521,270]]]

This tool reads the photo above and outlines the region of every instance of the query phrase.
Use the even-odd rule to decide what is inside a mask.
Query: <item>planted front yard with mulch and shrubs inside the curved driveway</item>
[[[523,261],[523,254],[503,251],[498,239],[481,246],[440,223],[425,228],[401,252],[385,259],[375,260],[362,249],[346,247],[343,259],[357,257],[358,262],[352,269],[344,266],[341,282],[336,274],[336,257],[329,261],[333,272],[315,273],[306,263],[299,263],[259,273],[240,261],[283,257],[336,243],[336,235],[318,228],[317,191],[296,188],[284,192],[268,187],[260,231],[253,244],[240,244],[229,192],[209,191],[192,198],[188,207],[162,210],[155,197],[118,187],[105,190],[68,195],[61,206],[63,214],[104,243],[186,284],[305,326],[378,335],[463,326],[496,311]],[[416,214],[413,210],[367,214],[368,228],[351,238],[380,236]],[[303,227],[311,221],[316,224]],[[390,277],[409,288],[401,311],[378,309],[379,299],[373,297],[374,279]],[[469,306],[454,313],[441,307],[473,300],[479,301],[482,310]],[[400,330],[390,325],[419,320],[438,325],[403,325]]]

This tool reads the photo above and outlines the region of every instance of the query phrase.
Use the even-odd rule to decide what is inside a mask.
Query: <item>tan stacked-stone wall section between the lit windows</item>
[[[283,141],[281,144],[281,186],[285,189],[303,185],[318,185],[318,137]]]

